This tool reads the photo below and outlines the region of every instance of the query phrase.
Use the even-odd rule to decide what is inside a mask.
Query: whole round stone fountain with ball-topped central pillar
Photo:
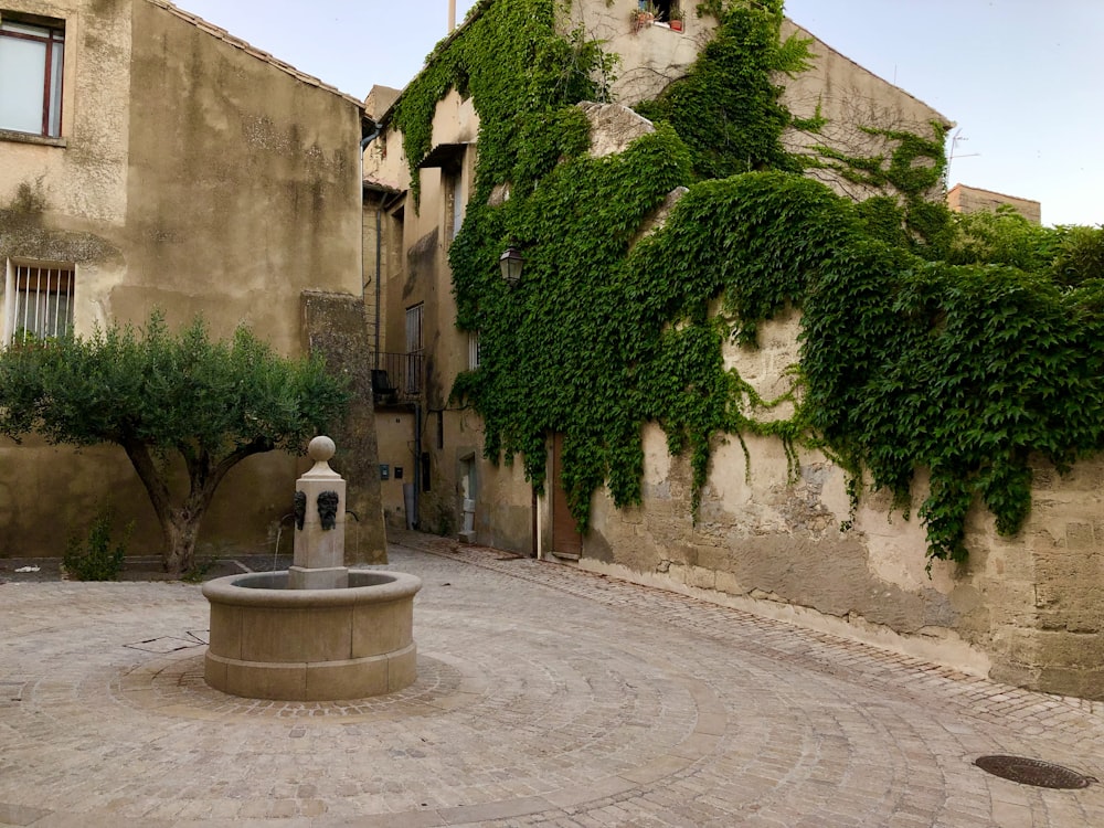
[[[332,701],[401,690],[417,678],[414,594],[422,581],[344,565],[346,484],[315,437],[297,481],[295,554],[283,572],[203,585],[211,604],[208,684],[253,699]]]

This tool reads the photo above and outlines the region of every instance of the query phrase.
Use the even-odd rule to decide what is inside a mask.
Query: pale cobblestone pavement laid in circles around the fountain
[[[403,534],[420,677],[332,703],[202,679],[180,583],[0,585],[0,824],[1104,826],[983,754],[1104,778],[1093,705],[737,611]]]

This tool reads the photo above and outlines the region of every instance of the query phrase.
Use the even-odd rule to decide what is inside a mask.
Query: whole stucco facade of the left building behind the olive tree
[[[338,364],[350,338],[364,347],[360,102],[161,0],[3,0],[0,21],[7,336],[87,335],[160,308],[173,327],[202,314],[220,338],[244,322],[287,355],[330,348]],[[347,445],[335,435],[343,449],[374,453],[370,414]],[[157,549],[121,450],[29,439],[0,456],[0,554],[60,554],[108,498],[138,522],[131,550]],[[300,463],[232,470],[200,553],[272,552]],[[370,521],[368,469],[350,482]],[[368,527],[354,556],[382,554]]]

